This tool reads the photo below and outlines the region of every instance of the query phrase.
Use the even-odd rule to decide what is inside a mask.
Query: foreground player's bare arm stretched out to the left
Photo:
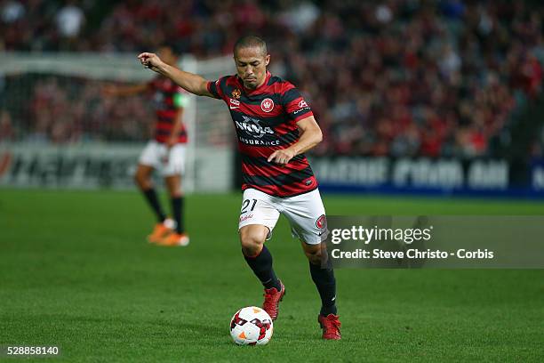
[[[164,63],[155,53],[142,52],[138,59],[144,67],[172,79],[173,82],[186,91],[197,96],[213,97],[212,93],[208,91],[208,81],[203,77],[170,66]]]

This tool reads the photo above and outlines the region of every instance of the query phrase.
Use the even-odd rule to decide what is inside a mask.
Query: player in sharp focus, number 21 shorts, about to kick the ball
[[[242,156],[240,242],[245,261],[265,288],[263,309],[276,319],[285,294],[265,246],[279,215],[284,214],[291,223],[292,235],[300,238],[321,297],[318,322],[323,338],[340,339],[336,281],[330,264],[322,263],[326,261],[322,244],[327,233],[324,206],[304,156],[322,140],[322,133],[299,91],[267,71],[267,44],[257,36],[240,38],[234,47],[236,76],[214,82],[176,69],[154,53],[143,52],[138,58],[145,67],[188,92],[227,103]]]

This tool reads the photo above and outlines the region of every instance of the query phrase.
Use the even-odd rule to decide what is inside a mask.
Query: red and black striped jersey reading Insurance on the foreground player
[[[313,116],[291,83],[267,72],[263,85],[247,90],[237,76],[208,82],[208,91],[225,101],[236,127],[242,156],[242,190],[254,188],[275,197],[292,197],[317,188],[308,159],[297,155],[284,166],[268,162],[277,149],[299,140],[297,122]]]

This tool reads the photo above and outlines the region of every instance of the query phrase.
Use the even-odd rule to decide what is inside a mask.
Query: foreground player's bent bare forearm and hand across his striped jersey
[[[321,128],[317,125],[316,118],[313,116],[301,119],[297,122],[297,125],[300,130],[299,141],[292,144],[289,148],[274,151],[268,157],[268,162],[286,165],[293,157],[314,148],[323,140]]]

